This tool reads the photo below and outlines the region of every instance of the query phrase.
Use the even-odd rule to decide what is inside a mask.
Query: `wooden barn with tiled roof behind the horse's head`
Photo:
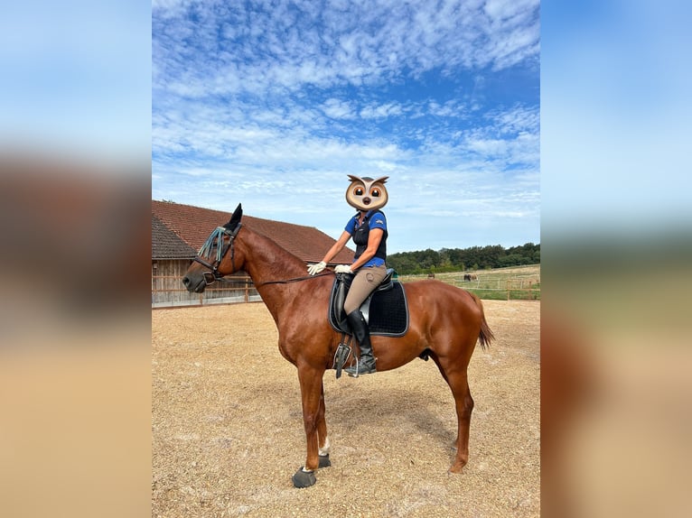
[[[260,300],[244,273],[234,275],[234,282],[217,282],[201,294],[189,293],[182,286],[190,261],[231,212],[152,200],[152,307]],[[334,244],[332,237],[315,227],[251,216],[243,216],[243,225],[274,240],[306,265],[321,261]],[[351,264],[352,260],[353,251],[346,248],[332,264]]]

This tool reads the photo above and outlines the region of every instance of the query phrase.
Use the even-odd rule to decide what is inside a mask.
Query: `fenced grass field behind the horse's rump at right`
[[[471,282],[463,275],[475,275]],[[402,282],[419,281],[427,275],[400,275]],[[510,266],[492,270],[436,273],[435,279],[453,284],[492,301],[540,301],[540,264]]]

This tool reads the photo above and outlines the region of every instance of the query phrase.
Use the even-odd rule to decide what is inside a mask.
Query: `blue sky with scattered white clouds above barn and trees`
[[[152,198],[339,236],[389,176],[390,252],[540,242],[534,0],[152,5]]]

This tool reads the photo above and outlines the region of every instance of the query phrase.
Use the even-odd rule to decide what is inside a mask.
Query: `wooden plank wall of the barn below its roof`
[[[190,293],[182,285],[182,277],[189,264],[187,259],[152,261],[153,308],[260,300],[245,273],[233,276],[243,282],[215,282],[203,293]]]

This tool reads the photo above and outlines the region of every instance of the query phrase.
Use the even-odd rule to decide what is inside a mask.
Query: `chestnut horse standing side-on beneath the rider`
[[[327,320],[335,274],[306,275],[306,264],[258,232],[243,227],[238,204],[230,220],[212,231],[182,278],[200,293],[225,275],[243,270],[267,305],[278,329],[278,348],[298,370],[306,439],[304,467],[292,477],[295,487],[313,486],[314,472],[331,466],[331,444],[324,419],[323,375],[334,368],[340,334]],[[476,343],[494,338],[482,301],[468,291],[435,280],[403,284],[410,311],[403,337],[371,338],[377,370],[388,371],[417,357],[431,357],[454,395],[457,414],[456,456],[449,472],[460,473],[469,458],[473,399],[467,367]],[[355,354],[355,347],[354,347]],[[377,375],[377,374],[374,374]]]

